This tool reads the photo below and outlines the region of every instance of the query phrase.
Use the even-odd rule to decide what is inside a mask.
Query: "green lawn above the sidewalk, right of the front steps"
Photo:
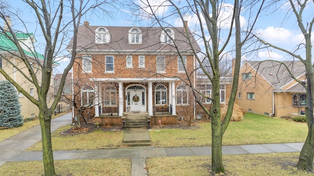
[[[152,129],[154,147],[211,146],[211,124],[199,123],[199,129]],[[308,127],[279,118],[246,113],[240,122],[230,122],[223,145],[247,145],[304,142]]]

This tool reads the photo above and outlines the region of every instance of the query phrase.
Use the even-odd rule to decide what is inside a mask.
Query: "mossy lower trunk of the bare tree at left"
[[[53,152],[51,141],[51,117],[52,112],[39,110],[39,122],[41,126],[44,176],[56,176],[53,164]]]

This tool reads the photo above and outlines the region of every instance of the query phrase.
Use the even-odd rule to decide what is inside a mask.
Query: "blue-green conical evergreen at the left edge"
[[[9,81],[0,81],[0,127],[12,128],[23,125],[19,96]]]

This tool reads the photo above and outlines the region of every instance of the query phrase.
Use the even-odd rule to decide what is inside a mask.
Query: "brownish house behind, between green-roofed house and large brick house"
[[[53,77],[53,95],[56,94],[60,86],[62,74],[55,74]],[[56,111],[67,111],[72,108],[72,73],[69,72],[63,87],[61,99],[56,107]]]

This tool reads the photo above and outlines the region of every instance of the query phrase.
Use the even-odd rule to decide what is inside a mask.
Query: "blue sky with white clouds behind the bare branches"
[[[142,0],[142,2],[145,0]],[[141,6],[144,7],[145,5],[142,4],[140,0],[135,0],[135,2]],[[163,8],[153,8],[159,16],[162,16],[165,14],[169,14],[172,12],[172,9],[167,6],[169,3],[165,2],[164,0],[149,0],[151,5],[160,5],[163,4],[166,7]],[[178,2],[178,1],[175,1]],[[231,2],[231,4],[228,4],[227,2]],[[226,0],[226,3],[222,5],[224,8],[224,13],[220,16],[221,19],[225,19],[225,17],[230,16],[232,13],[232,10],[230,7],[232,7],[232,3],[234,0]],[[259,34],[260,37],[262,37],[265,41],[277,45],[279,47],[285,48],[290,51],[294,51],[297,46],[302,42],[303,35],[301,31],[298,28],[298,24],[296,22],[296,18],[294,14],[291,13],[290,7],[288,3],[284,3],[285,1],[281,1],[281,4],[277,4],[277,10],[271,9],[271,8],[265,8],[262,10],[261,16],[255,25],[255,34]],[[27,13],[29,10],[25,9],[24,2],[21,2],[20,0],[15,0],[11,2],[11,5],[15,7],[19,7],[23,10],[23,16],[27,16]],[[183,3],[181,4],[183,5]],[[134,14],[138,13],[138,11],[134,11],[130,9],[130,5],[115,5],[117,9],[110,8],[111,16],[107,16],[105,14],[101,14],[100,12],[96,12],[94,14],[86,14],[83,16],[81,23],[84,21],[89,21],[90,25],[103,25],[103,26],[149,26],[152,25],[152,20],[147,20],[145,18],[138,18],[135,17]],[[311,5],[308,5],[306,8],[306,11],[304,12],[304,17],[308,17],[310,20],[313,18],[313,3]],[[242,9],[243,11],[245,9]],[[245,25],[250,21],[248,17],[245,16],[247,13],[243,13],[244,15],[241,16],[241,25],[245,27]],[[312,16],[311,16],[312,15]],[[36,29],[36,22],[34,16],[29,15],[27,17],[27,20],[30,22],[29,25],[29,32],[34,32],[35,37],[38,40],[38,42],[41,42],[42,37],[36,36],[36,31],[38,31],[38,28]],[[198,23],[196,20],[195,15],[189,15],[185,17],[185,20],[188,20],[188,26],[190,30],[198,33]],[[309,21],[309,19],[304,18],[304,21]],[[179,20],[177,17],[171,17],[169,19],[166,19],[167,23],[172,24],[174,26],[183,26],[181,20]],[[229,20],[225,20],[224,23],[228,25],[230,22]],[[12,24],[14,24],[14,19],[12,21]],[[38,26],[37,26],[38,27]],[[313,37],[312,37],[313,38]],[[223,42],[223,41],[222,41]],[[66,42],[65,42],[66,43]],[[200,47],[204,47],[204,44],[202,42],[199,42]],[[38,50],[43,50],[44,46],[41,47],[41,45],[38,46]],[[230,46],[232,48],[232,46]],[[304,54],[304,53],[299,53]],[[60,55],[59,55],[60,56]],[[230,57],[233,57],[232,54]],[[292,58],[289,57],[287,54],[280,52],[278,50],[266,50],[262,49],[259,50],[258,54],[256,55],[250,55],[250,56],[243,56],[245,59],[248,60],[264,60],[264,59],[276,59],[276,60],[291,60]],[[66,63],[66,59],[63,59]],[[63,61],[59,60],[58,62],[60,65],[63,65]],[[62,70],[63,67],[60,67],[58,70]]]

